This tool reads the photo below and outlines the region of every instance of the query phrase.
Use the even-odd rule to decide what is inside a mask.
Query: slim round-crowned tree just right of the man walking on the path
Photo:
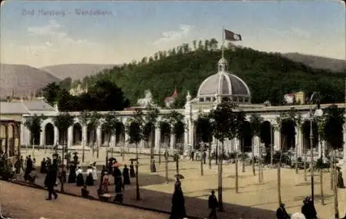
[[[67,147],[67,132],[69,127],[73,126],[74,117],[69,113],[62,112],[59,115],[53,118],[53,122],[57,129],[60,131],[59,135],[62,135],[63,144],[62,144],[62,169],[64,169],[64,159],[66,158],[64,153],[64,148],[66,146],[66,155],[69,154],[69,149]],[[61,191],[64,191],[64,180],[61,180]]]

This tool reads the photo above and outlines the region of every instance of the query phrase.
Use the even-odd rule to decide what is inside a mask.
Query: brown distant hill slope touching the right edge
[[[289,58],[292,61],[302,62],[311,68],[328,69],[336,73],[346,73],[346,60],[343,59],[331,59],[300,53],[284,53],[282,56]]]

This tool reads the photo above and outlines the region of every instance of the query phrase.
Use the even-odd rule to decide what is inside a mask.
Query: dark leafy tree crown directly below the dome
[[[230,101],[223,101],[212,110],[213,120],[215,121],[215,137],[220,142],[225,138],[233,139],[237,135],[237,113],[233,110],[237,106]]]

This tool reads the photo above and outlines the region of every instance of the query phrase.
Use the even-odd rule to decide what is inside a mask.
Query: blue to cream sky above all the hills
[[[3,1],[1,63],[122,64],[194,39],[345,59],[341,1]]]

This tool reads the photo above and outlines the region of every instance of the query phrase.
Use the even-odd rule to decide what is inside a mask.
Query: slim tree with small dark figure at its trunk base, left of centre
[[[157,118],[158,118],[158,108],[152,106],[152,104],[149,104],[147,108],[145,109],[145,129],[144,132],[147,133],[147,135],[144,136],[149,136],[151,139],[151,144],[150,144],[150,166],[153,167],[152,165],[154,164],[154,147],[155,147],[155,125],[157,123]],[[149,139],[147,139],[149,142]],[[153,172],[155,168],[150,168],[150,170]]]

